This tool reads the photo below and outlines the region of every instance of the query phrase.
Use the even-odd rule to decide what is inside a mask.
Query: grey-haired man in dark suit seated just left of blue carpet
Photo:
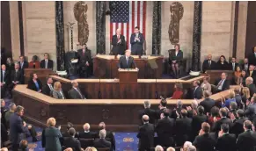
[[[93,141],[94,147],[109,147],[111,148],[111,142],[106,140],[106,130],[99,131],[99,139]]]

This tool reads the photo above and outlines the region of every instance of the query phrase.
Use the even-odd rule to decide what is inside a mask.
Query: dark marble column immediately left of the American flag
[[[106,2],[96,2],[96,48],[97,54],[106,54]]]

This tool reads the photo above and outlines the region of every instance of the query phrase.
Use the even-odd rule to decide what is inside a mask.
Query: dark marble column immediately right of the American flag
[[[153,2],[152,54],[160,54],[161,48],[161,2]]]

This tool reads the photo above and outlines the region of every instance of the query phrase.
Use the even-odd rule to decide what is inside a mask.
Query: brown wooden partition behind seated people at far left
[[[41,83],[46,83],[46,78],[48,75],[55,75],[54,71],[49,68],[25,68],[24,69],[24,77],[25,77],[25,83],[27,84],[30,74],[34,73],[38,76]]]

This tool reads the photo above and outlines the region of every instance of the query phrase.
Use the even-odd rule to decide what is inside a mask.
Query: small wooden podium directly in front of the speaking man
[[[126,68],[118,70],[120,83],[137,83],[138,70],[133,68]]]

